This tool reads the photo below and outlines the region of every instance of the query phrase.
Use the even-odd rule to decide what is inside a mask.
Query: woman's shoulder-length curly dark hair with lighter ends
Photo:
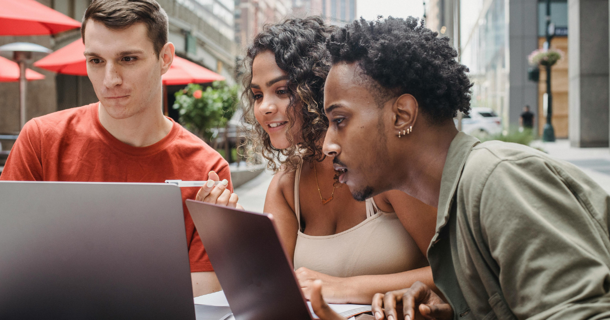
[[[244,105],[243,121],[247,124],[245,143],[248,160],[258,152],[267,159],[267,167],[273,171],[280,168],[296,169],[300,158],[304,161],[321,161],[325,155],[319,143],[328,129],[324,113],[324,82],[331,69],[331,58],[326,49],[326,39],[335,30],[318,16],[290,18],[277,24],[266,24],[248,46],[243,59],[245,73],[242,77]],[[271,51],[280,69],[287,73],[290,102],[286,138],[291,147],[277,149],[271,145],[269,135],[254,118],[254,97],[250,88],[252,63],[257,54]],[[303,119],[300,143],[290,135],[295,120]]]

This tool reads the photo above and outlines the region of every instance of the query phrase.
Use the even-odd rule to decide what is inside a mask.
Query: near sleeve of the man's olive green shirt
[[[574,191],[594,182],[568,172],[539,157],[503,161],[480,194],[479,248],[519,319],[610,318],[608,228]]]

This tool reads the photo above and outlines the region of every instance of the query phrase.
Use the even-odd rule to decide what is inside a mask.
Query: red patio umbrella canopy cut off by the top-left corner
[[[79,27],[79,21],[35,0],[0,0],[0,35],[48,35]]]

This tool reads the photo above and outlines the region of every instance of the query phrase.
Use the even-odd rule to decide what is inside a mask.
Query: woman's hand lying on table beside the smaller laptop
[[[319,279],[323,284],[322,293],[324,294],[326,301],[331,304],[350,303],[350,286],[348,284],[348,278],[328,276],[327,274],[313,271],[305,267],[296,269],[295,274],[306,299],[311,300],[314,282]]]

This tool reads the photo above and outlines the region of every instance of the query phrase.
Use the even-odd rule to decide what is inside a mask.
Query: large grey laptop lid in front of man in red
[[[166,183],[0,182],[0,319],[195,319]]]

